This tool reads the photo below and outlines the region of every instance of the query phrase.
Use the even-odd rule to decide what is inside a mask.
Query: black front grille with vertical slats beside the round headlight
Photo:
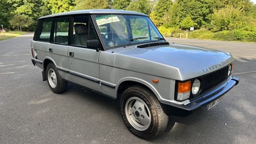
[[[221,68],[220,70],[216,70],[215,72],[212,72],[210,74],[206,74],[200,77],[202,82],[200,95],[204,95],[205,93],[216,88],[221,83],[226,81],[227,78],[228,78],[228,67]]]

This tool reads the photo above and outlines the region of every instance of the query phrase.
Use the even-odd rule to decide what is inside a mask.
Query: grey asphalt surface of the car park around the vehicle
[[[214,108],[186,118],[151,141],[125,127],[118,102],[69,84],[52,93],[31,63],[32,35],[0,41],[0,143],[255,143],[256,44],[167,38],[232,52],[240,83]]]

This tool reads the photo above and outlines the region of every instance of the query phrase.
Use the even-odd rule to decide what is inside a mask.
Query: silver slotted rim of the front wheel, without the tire
[[[129,124],[138,131],[145,131],[150,127],[150,110],[143,100],[131,97],[125,103],[125,115]]]

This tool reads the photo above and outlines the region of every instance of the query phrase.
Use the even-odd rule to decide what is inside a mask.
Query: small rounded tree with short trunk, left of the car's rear
[[[34,20],[29,19],[28,16],[26,15],[14,15],[12,17],[12,19],[10,20],[10,24],[12,26],[12,28],[17,28],[19,31],[19,28],[21,26],[21,28],[24,30],[28,30],[29,26],[31,26],[34,23]]]

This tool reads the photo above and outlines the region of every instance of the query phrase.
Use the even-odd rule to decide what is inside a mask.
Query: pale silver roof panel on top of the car
[[[58,16],[63,16],[63,15],[102,14],[102,13],[148,16],[144,13],[132,12],[132,11],[127,11],[127,10],[97,9],[97,10],[77,10],[77,11],[71,11],[71,12],[56,13],[53,15],[46,15],[44,17],[40,17],[39,19],[44,19],[44,18],[48,18],[48,17],[58,17]]]

